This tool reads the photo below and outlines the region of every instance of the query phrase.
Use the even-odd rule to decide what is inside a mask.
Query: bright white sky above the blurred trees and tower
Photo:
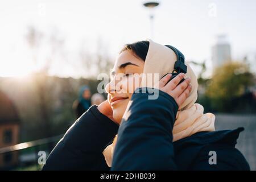
[[[143,2],[0,1],[0,76],[21,76],[35,71],[25,39],[28,26],[44,34],[57,30],[57,36],[65,38],[67,61],[56,60],[51,75],[84,76],[83,68],[71,65],[79,65],[77,55],[82,43],[88,51],[95,52],[99,38],[114,61],[123,44],[150,38],[150,20]],[[256,1],[159,2],[160,6],[154,11],[154,41],[179,48],[187,60],[207,60],[210,70],[210,48],[218,34],[228,35],[234,60],[246,54],[255,55]],[[216,16],[209,16],[211,3],[216,5]],[[40,55],[44,53],[47,54],[47,48]],[[255,63],[255,57],[251,61]]]

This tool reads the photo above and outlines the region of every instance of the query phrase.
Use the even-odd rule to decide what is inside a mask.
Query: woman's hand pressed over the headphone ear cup
[[[172,96],[179,107],[188,98],[189,93],[192,90],[192,86],[190,85],[191,78],[185,78],[185,80],[179,84],[184,76],[184,73],[180,73],[168,82],[172,77],[172,74],[170,73],[159,81],[159,90],[162,90]]]

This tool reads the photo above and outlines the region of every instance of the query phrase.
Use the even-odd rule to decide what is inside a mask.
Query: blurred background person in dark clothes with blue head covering
[[[81,86],[79,89],[79,98],[73,103],[73,110],[75,111],[77,118],[80,118],[80,116],[91,106],[90,96],[89,86]]]

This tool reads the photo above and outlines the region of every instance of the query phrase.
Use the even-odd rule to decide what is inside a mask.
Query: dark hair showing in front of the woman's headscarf
[[[135,56],[145,61],[148,47],[148,41],[139,41],[132,44],[126,44],[119,53],[122,53],[123,51],[132,51]]]

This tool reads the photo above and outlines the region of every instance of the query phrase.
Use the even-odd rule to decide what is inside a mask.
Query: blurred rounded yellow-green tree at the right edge
[[[216,111],[232,111],[232,100],[243,96],[254,84],[254,75],[249,65],[229,62],[218,67],[205,90],[210,104]]]

